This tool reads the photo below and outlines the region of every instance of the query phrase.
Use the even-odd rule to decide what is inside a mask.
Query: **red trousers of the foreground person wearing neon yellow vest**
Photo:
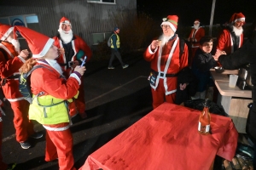
[[[45,138],[45,161],[53,161],[58,158],[60,170],[75,170],[76,168],[73,167],[73,137],[69,128],[64,131],[46,129]]]

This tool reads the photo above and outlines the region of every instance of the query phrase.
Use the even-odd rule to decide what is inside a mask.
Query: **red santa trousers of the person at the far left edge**
[[[28,119],[29,103],[26,99],[10,102],[15,118],[16,140],[25,142],[30,135],[35,133],[33,123]]]

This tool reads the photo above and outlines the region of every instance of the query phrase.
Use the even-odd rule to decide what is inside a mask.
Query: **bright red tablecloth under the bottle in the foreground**
[[[93,152],[79,170],[202,170],[216,155],[231,161],[238,138],[233,122],[211,114],[212,134],[201,135],[200,113],[164,103]]]

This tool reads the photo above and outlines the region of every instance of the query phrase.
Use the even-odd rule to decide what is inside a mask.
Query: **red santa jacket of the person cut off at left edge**
[[[0,77],[6,78],[6,83],[3,88],[5,98],[10,102],[24,99],[19,91],[19,78],[13,78],[15,75],[20,75],[19,69],[26,60],[18,56],[13,44],[9,42],[1,42],[0,48],[3,48],[8,55],[8,60],[5,59],[4,54],[0,51]]]

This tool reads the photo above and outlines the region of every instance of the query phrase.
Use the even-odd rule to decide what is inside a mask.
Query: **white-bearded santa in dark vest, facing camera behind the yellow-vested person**
[[[53,37],[54,44],[57,48],[64,48],[65,52],[60,54],[57,61],[64,71],[64,76],[69,77],[73,69],[77,65],[81,65],[84,56],[86,56],[86,61],[90,59],[92,52],[81,37],[73,35],[71,22],[66,17],[61,18],[58,31],[57,36]],[[83,56],[79,56],[80,52],[83,53]],[[86,118],[83,79],[79,88],[79,97],[74,101],[69,105],[71,115],[76,116],[79,113],[82,118]]]

